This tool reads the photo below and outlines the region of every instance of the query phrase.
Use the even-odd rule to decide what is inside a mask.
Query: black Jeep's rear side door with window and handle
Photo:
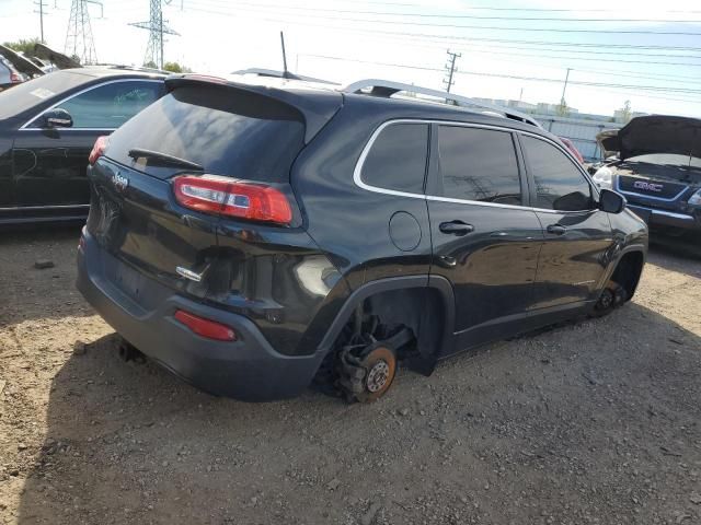
[[[504,336],[533,304],[542,230],[509,130],[436,124],[430,272],[453,288],[456,351]]]

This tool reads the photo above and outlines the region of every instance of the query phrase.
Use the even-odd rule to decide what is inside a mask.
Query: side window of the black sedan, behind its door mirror
[[[116,129],[156,102],[160,82],[113,82],[69,98],[57,108],[66,109],[73,128]]]

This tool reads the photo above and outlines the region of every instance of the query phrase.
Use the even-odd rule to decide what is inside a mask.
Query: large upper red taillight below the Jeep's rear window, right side
[[[289,224],[292,209],[277,188],[225,177],[183,175],[173,183],[177,202],[204,213]]]

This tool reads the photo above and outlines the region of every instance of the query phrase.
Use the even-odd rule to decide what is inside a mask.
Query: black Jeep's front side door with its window
[[[564,149],[544,138],[520,136],[531,201],[544,232],[538,261],[538,307],[595,300],[613,245],[607,213],[596,192]]]

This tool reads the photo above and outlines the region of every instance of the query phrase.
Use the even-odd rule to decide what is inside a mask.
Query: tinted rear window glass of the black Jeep
[[[106,156],[131,165],[128,153],[136,148],[194,162],[212,175],[284,183],[303,139],[302,117],[290,106],[196,84],[176,89],[122,126],[111,137]],[[148,160],[139,160],[138,168],[159,178],[175,173]]]

